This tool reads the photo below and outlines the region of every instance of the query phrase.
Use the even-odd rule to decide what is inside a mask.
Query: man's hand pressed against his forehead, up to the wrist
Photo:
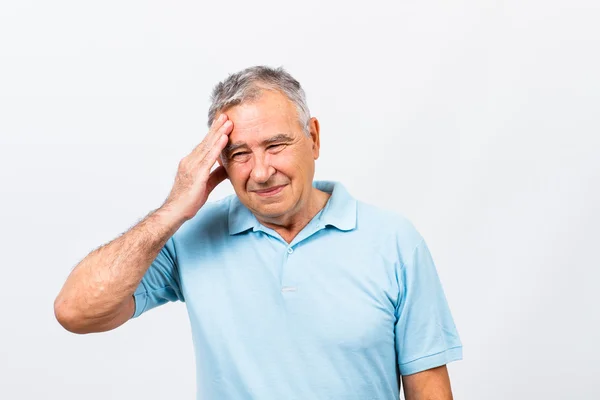
[[[213,121],[208,134],[194,150],[179,162],[175,183],[161,208],[185,219],[193,218],[208,200],[213,189],[227,178],[223,166],[212,167],[229,140],[233,122],[225,114]]]

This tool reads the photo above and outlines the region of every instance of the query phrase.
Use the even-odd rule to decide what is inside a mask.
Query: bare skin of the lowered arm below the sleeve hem
[[[452,400],[450,377],[445,365],[402,376],[406,400]]]

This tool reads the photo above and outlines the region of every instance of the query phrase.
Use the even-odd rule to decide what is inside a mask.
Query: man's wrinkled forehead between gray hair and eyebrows
[[[231,143],[252,144],[281,133],[295,136],[301,130],[296,107],[276,91],[263,91],[256,100],[233,106],[225,113],[233,122]]]

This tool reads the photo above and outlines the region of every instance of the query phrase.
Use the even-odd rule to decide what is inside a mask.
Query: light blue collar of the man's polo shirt
[[[342,231],[356,228],[356,200],[341,183],[313,181],[313,187],[331,194],[319,218],[323,227],[332,225]],[[235,235],[249,229],[255,231],[259,227],[260,223],[254,214],[233,195],[229,203],[229,234]]]

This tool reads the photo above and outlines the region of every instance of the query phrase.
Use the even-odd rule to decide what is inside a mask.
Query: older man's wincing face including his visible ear
[[[276,222],[301,212],[311,194],[319,156],[319,125],[310,137],[294,104],[265,90],[250,103],[225,110],[233,122],[222,165],[240,201],[259,219]]]

